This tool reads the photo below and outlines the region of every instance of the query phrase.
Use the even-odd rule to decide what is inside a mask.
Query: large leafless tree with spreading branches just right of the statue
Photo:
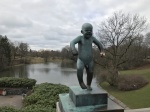
[[[110,72],[110,85],[117,85],[119,66],[128,61],[127,58],[124,58],[125,54],[145,28],[146,19],[144,17],[123,12],[115,12],[99,25],[97,35],[106,47],[108,63],[105,67]]]

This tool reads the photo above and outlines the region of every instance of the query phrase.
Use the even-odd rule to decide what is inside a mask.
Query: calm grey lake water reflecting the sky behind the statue
[[[26,77],[36,79],[37,84],[49,82],[64,84],[67,86],[79,86],[76,74],[76,63],[40,63],[22,65],[0,72],[0,77]],[[84,71],[84,82],[86,83],[86,72]],[[92,86],[96,86],[93,78]]]

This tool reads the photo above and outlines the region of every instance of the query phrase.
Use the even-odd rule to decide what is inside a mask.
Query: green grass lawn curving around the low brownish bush
[[[116,88],[110,87],[108,83],[103,83],[101,86],[111,95],[122,101],[131,109],[148,108],[150,107],[150,67],[143,69],[120,71],[121,75],[143,75],[149,80],[149,84],[145,87],[133,91],[119,91]]]

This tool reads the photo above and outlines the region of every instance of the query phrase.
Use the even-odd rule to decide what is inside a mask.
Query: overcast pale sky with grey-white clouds
[[[0,35],[32,50],[61,50],[91,23],[93,33],[114,12],[139,14],[150,22],[150,0],[0,0]]]

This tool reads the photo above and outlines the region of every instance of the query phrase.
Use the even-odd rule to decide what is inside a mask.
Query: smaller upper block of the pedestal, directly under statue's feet
[[[107,92],[103,89],[93,87],[92,91],[83,90],[79,86],[72,86],[69,88],[69,96],[75,106],[89,106],[89,105],[106,105]]]

